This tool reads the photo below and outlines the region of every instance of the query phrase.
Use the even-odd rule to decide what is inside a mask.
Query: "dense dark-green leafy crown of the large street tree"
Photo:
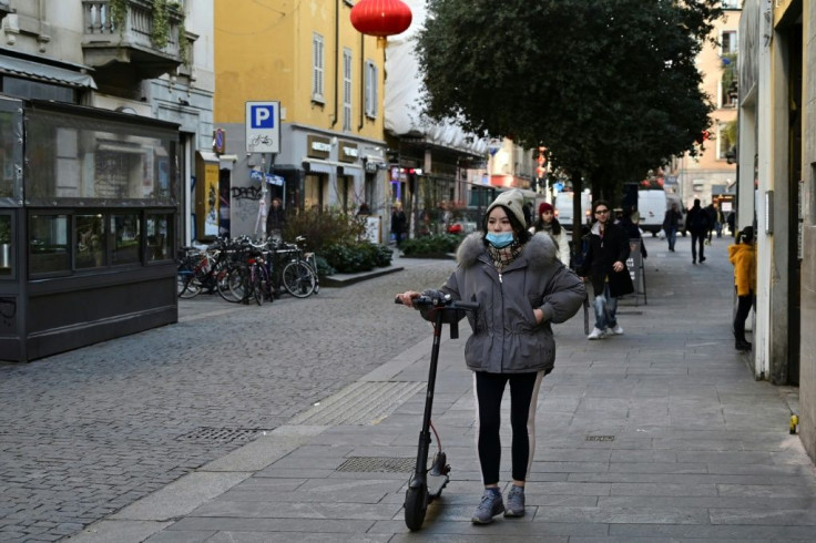
[[[698,153],[713,106],[694,62],[720,3],[429,0],[417,41],[426,113],[545,145],[577,191],[586,180],[614,195]]]

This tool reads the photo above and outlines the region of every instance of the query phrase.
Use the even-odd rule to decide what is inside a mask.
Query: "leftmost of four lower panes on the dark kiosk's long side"
[[[29,217],[29,267],[31,275],[71,269],[68,215],[32,214]]]

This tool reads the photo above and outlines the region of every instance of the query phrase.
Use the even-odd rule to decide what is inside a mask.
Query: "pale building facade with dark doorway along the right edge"
[[[757,233],[752,366],[799,386],[816,459],[816,7],[745,0],[741,24],[737,226]]]

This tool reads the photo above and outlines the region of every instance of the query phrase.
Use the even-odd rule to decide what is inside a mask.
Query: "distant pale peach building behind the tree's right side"
[[[675,167],[677,186],[666,188],[676,191],[683,205],[691,207],[694,198],[703,205],[725,193],[736,183],[736,166],[730,164],[726,154],[736,141],[728,133],[728,124],[737,117],[737,94],[735,70],[738,49],[741,11],[738,2],[723,2],[724,17],[715,21],[714,35],[718,44],[707,43],[696,59],[697,69],[703,74],[703,90],[716,107],[711,114],[712,125],[703,142],[702,154],[697,157],[683,156]],[[734,84],[732,84],[732,82]],[[730,213],[731,209],[723,209]]]

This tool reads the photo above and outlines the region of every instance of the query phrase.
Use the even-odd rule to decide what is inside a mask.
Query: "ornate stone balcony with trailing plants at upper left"
[[[135,79],[153,79],[173,72],[183,63],[178,47],[183,17],[176,4],[167,8],[166,35],[157,37],[152,0],[128,0],[122,28],[116,28],[111,3],[111,0],[82,0],[82,51],[86,65],[95,68],[96,73],[108,69],[120,72],[126,65]]]

